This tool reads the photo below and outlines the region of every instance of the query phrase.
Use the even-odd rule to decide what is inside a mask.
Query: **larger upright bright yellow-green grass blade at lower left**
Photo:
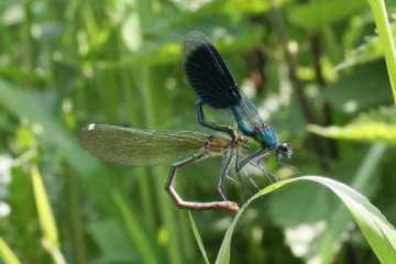
[[[55,263],[64,264],[66,262],[61,253],[53,211],[37,167],[33,166],[31,174],[38,222],[43,232],[43,246],[52,255]]]

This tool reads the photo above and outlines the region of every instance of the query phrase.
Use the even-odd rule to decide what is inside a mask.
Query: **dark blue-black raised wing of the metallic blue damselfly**
[[[184,68],[198,96],[216,109],[238,106],[240,90],[226,63],[209,38],[201,32],[190,32],[183,46]]]

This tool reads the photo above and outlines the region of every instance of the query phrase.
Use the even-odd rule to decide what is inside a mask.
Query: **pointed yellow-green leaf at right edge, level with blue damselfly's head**
[[[322,128],[310,124],[308,130],[332,139],[396,144],[396,108],[384,107],[363,113],[344,127]]]

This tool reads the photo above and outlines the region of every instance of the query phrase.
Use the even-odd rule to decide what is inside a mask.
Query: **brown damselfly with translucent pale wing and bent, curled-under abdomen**
[[[178,207],[194,210],[239,210],[237,202],[228,200],[186,201],[175,190],[175,179],[177,170],[190,163],[210,156],[222,156],[218,190],[223,196],[223,180],[228,177],[232,158],[238,158],[240,147],[248,148],[248,140],[243,135],[237,133],[231,141],[222,135],[191,131],[164,132],[110,124],[89,124],[80,133],[80,144],[95,156],[122,165],[153,166],[174,162],[166,183],[166,191]]]

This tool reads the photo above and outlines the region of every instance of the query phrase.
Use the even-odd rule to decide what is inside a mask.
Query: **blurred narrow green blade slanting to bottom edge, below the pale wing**
[[[139,223],[139,220],[134,215],[135,210],[129,209],[129,206],[127,205],[125,200],[118,191],[113,193],[113,200],[121,213],[128,233],[134,246],[136,248],[138,252],[140,252],[140,255],[144,261],[144,263],[147,264],[160,263],[156,260],[155,250],[153,249],[153,246],[150,245],[148,242],[150,240],[148,238],[145,237],[145,233],[143,232],[144,229],[142,224]]]

